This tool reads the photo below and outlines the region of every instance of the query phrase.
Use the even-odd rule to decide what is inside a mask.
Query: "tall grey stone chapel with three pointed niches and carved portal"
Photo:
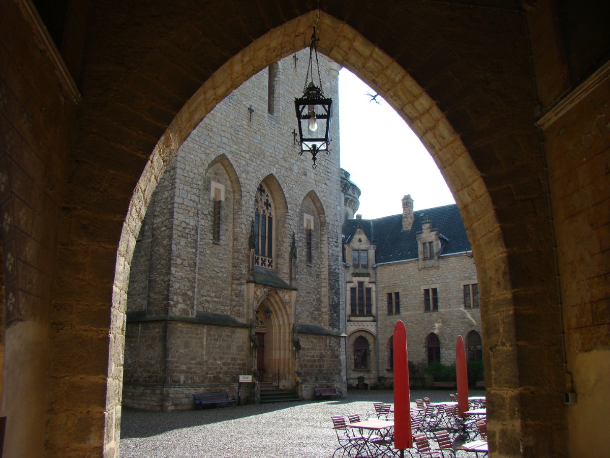
[[[295,143],[309,49],[227,96],[184,142],[148,207],[127,293],[123,405],[190,409],[192,393],[312,397],[344,385],[339,122],[317,168]],[[337,100],[339,65],[320,56]],[[278,167],[283,164],[285,167]]]

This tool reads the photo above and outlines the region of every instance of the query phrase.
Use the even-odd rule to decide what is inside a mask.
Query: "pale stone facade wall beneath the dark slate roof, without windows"
[[[464,341],[472,330],[481,335],[481,311],[479,308],[464,308],[463,286],[478,283],[473,259],[464,254],[447,255],[440,256],[438,264],[438,267],[429,268],[420,268],[418,260],[377,264],[376,277],[373,273],[371,278],[354,278],[354,281],[371,282],[365,286],[372,288],[373,301],[376,301],[373,315],[376,316],[351,316],[348,321],[351,385],[356,385],[358,376],[364,376],[369,385],[377,385],[378,377],[386,377],[386,383],[392,383],[389,341],[399,319],[407,330],[409,361],[415,364],[427,364],[426,337],[429,333],[434,332],[439,337],[440,362],[445,365],[455,362],[458,335],[462,335]],[[370,270],[373,272],[373,267]],[[353,283],[347,285],[349,289]],[[437,288],[438,311],[424,311],[423,288]],[[389,314],[387,293],[397,292],[400,293],[400,313]],[[349,294],[346,307],[350,307]],[[370,344],[367,369],[354,369],[353,344],[359,335],[365,336]]]

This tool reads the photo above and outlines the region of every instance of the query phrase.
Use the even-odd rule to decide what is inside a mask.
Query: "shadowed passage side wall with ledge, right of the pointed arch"
[[[610,65],[606,64],[540,123],[545,139],[557,245],[565,391],[573,425],[571,456],[606,445],[586,432],[605,420],[610,390]],[[583,106],[590,109],[584,114]],[[586,221],[586,225],[583,225]],[[596,367],[597,371],[584,368]]]

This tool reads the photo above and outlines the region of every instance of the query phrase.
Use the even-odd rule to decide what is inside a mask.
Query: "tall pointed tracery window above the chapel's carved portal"
[[[254,264],[273,269],[273,202],[262,184],[254,197]]]

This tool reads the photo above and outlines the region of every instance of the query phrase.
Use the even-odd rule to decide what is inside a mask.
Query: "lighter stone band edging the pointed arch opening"
[[[365,82],[378,89],[397,109],[432,154],[456,198],[467,233],[472,240],[476,264],[480,267],[478,277],[481,285],[481,302],[487,304],[487,307],[481,307],[481,316],[486,336],[484,343],[487,348],[486,361],[489,362],[486,367],[488,373],[486,379],[491,381],[488,393],[492,399],[497,396],[496,405],[510,403],[516,406],[513,410],[514,419],[509,422],[511,428],[514,428],[511,432],[509,432],[511,428],[508,428],[508,424],[504,421],[502,409],[498,409],[497,413],[491,413],[490,431],[492,434],[496,428],[500,431],[502,424],[502,432],[499,434],[506,436],[499,440],[514,442],[514,437],[525,434],[518,419],[522,416],[520,410],[524,405],[528,405],[528,402],[522,399],[523,393],[518,391],[522,382],[517,361],[523,351],[531,351],[528,349],[529,346],[517,344],[518,341],[526,341],[529,336],[519,335],[519,329],[515,327],[517,320],[515,312],[519,309],[519,304],[527,300],[525,296],[531,295],[534,291],[524,290],[525,296],[520,298],[515,294],[513,283],[515,279],[508,272],[512,272],[511,264],[522,261],[509,257],[509,247],[504,244],[503,231],[506,229],[503,229],[498,222],[498,209],[489,192],[489,184],[484,180],[471,154],[468,153],[439,106],[409,73],[346,23],[323,12],[307,13],[254,40],[204,82],[171,122],[151,154],[127,214],[117,256],[118,274],[114,297],[118,302],[115,302],[113,308],[118,313],[113,316],[120,321],[121,313],[124,312],[121,310],[124,306],[119,305],[126,291],[126,275],[122,272],[131,259],[133,241],[140,226],[140,209],[148,204],[157,177],[160,176],[167,161],[176,153],[197,123],[234,87],[242,84],[260,68],[306,47],[310,27],[318,15],[320,52],[349,67]],[[287,29],[292,31],[289,35]],[[272,43],[278,42],[284,45],[271,46]],[[245,70],[246,68],[248,70]],[[540,154],[540,151],[537,153]],[[535,156],[533,161],[537,161]],[[548,289],[539,289],[535,294],[544,296],[549,293]],[[502,305],[498,307],[497,304]],[[112,329],[117,329],[117,325],[112,325]],[[111,336],[111,355],[121,352],[119,336],[120,333],[117,334],[117,338]],[[114,346],[115,343],[118,347]],[[491,349],[494,351],[490,351]],[[549,351],[552,352],[552,349]],[[112,361],[110,365],[113,365]],[[550,379],[557,376],[554,368],[549,368],[549,371]],[[115,382],[120,384],[120,380],[116,377],[110,375],[110,379],[115,379]],[[547,392],[554,388],[538,387],[537,389]],[[113,411],[117,412],[118,409],[120,403],[117,399],[109,398],[107,415],[113,417],[116,415]],[[531,434],[535,434],[533,430]]]

